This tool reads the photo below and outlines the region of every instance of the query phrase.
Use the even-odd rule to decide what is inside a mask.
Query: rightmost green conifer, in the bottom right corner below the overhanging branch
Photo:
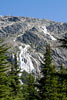
[[[65,69],[64,66],[61,66],[61,69],[59,72],[56,73],[58,79],[57,79],[57,93],[58,98],[60,100],[67,100],[66,97],[66,79],[65,79]]]

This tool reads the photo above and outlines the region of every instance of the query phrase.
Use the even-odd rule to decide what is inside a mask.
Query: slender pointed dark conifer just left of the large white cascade
[[[11,96],[13,98],[20,96],[21,94],[21,84],[20,84],[20,69],[17,63],[17,56],[14,55],[14,62],[11,66],[11,71],[9,73]]]

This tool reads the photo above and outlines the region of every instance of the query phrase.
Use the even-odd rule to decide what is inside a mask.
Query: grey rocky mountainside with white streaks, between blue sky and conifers
[[[0,38],[11,46],[10,52],[17,52],[21,70],[40,72],[46,43],[52,47],[53,63],[67,66],[67,51],[59,48],[57,38],[67,36],[67,23],[45,19],[0,16]]]

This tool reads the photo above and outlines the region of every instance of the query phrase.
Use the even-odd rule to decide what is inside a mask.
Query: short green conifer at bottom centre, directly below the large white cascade
[[[32,74],[29,74],[27,84],[23,84],[22,91],[25,96],[25,100],[38,100],[38,92],[35,88],[35,78]]]

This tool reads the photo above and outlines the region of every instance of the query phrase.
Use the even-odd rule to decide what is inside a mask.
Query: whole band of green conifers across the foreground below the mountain
[[[62,43],[64,45],[67,41]],[[61,65],[57,70],[53,65],[49,44],[41,63],[41,77],[37,79],[26,72],[20,77],[16,54],[14,63],[10,63],[8,55],[8,48],[0,44],[0,100],[67,100],[67,69]]]

